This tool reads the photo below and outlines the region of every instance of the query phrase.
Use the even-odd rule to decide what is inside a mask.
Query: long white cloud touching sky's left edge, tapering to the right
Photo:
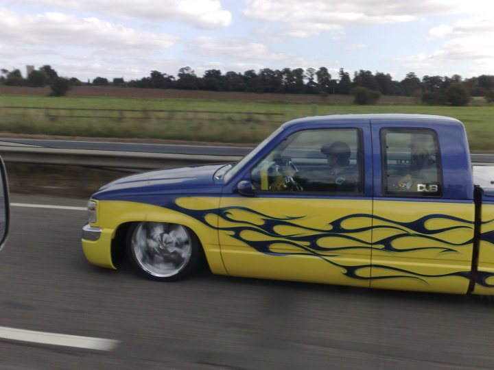
[[[4,45],[18,47],[65,45],[106,52],[154,53],[172,47],[178,37],[143,32],[95,17],[78,18],[58,12],[16,14],[0,8],[0,39]]]

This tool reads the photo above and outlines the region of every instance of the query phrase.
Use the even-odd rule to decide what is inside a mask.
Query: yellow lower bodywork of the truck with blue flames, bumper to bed
[[[86,258],[115,269],[110,245],[117,227],[157,221],[196,232],[213,273],[458,294],[469,285],[473,245],[459,244],[473,237],[473,204],[374,201],[374,225],[369,199],[182,197],[177,204],[186,210],[99,201],[93,226],[103,233],[96,242],[83,240]],[[439,216],[431,217],[431,209]],[[200,211],[203,218],[188,216],[187,210]],[[494,219],[494,206],[482,208],[482,219]],[[482,232],[492,230],[494,221],[482,225]],[[392,250],[384,249],[387,238]],[[481,272],[494,274],[494,243],[480,243],[479,261]],[[487,277],[487,284],[494,284],[494,277]],[[474,293],[491,291],[477,284]]]

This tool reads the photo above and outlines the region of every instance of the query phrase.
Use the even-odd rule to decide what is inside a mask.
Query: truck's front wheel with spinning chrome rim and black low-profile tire
[[[128,256],[151,280],[172,282],[197,266],[200,247],[195,234],[177,223],[140,222],[130,227]]]

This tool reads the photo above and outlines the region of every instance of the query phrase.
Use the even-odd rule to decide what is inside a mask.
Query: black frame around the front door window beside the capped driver
[[[300,135],[303,132],[309,132],[309,131],[327,131],[327,130],[339,130],[339,131],[354,131],[356,136],[357,136],[357,164],[360,164],[358,167],[358,180],[359,180],[359,185],[357,190],[355,191],[308,191],[308,190],[301,190],[301,191],[286,191],[286,190],[261,190],[261,189],[254,189],[254,193],[257,195],[290,195],[290,196],[295,196],[295,197],[301,197],[304,195],[308,196],[326,196],[326,197],[349,197],[349,196],[354,196],[354,197],[363,197],[364,196],[364,191],[365,191],[365,155],[364,155],[364,132],[362,130],[362,127],[317,127],[317,128],[309,128],[309,129],[302,129],[302,130],[297,130],[295,132],[292,132],[291,134],[287,135],[283,140],[280,141],[280,143],[277,144],[276,147],[272,148],[268,153],[266,153],[266,156],[263,156],[259,161],[255,162],[255,164],[250,167],[248,174],[249,174],[249,180],[252,178],[252,171],[258,167],[258,165],[265,160],[272,151],[274,151],[278,145],[282,145],[285,143],[287,140],[290,140],[290,136],[293,135]],[[296,162],[295,162],[296,165]]]

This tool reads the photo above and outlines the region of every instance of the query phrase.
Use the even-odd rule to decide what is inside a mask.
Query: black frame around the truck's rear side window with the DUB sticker
[[[398,134],[431,134],[434,142],[434,150],[436,152],[436,173],[439,184],[439,191],[437,194],[427,194],[427,192],[392,192],[388,190],[388,151],[386,145],[386,134],[398,133]],[[384,197],[391,198],[419,198],[419,199],[440,199],[444,195],[444,181],[443,181],[443,156],[440,152],[440,145],[438,140],[438,133],[436,130],[427,127],[383,127],[379,130],[379,145],[381,147],[381,194]],[[411,156],[411,153],[410,153]]]

